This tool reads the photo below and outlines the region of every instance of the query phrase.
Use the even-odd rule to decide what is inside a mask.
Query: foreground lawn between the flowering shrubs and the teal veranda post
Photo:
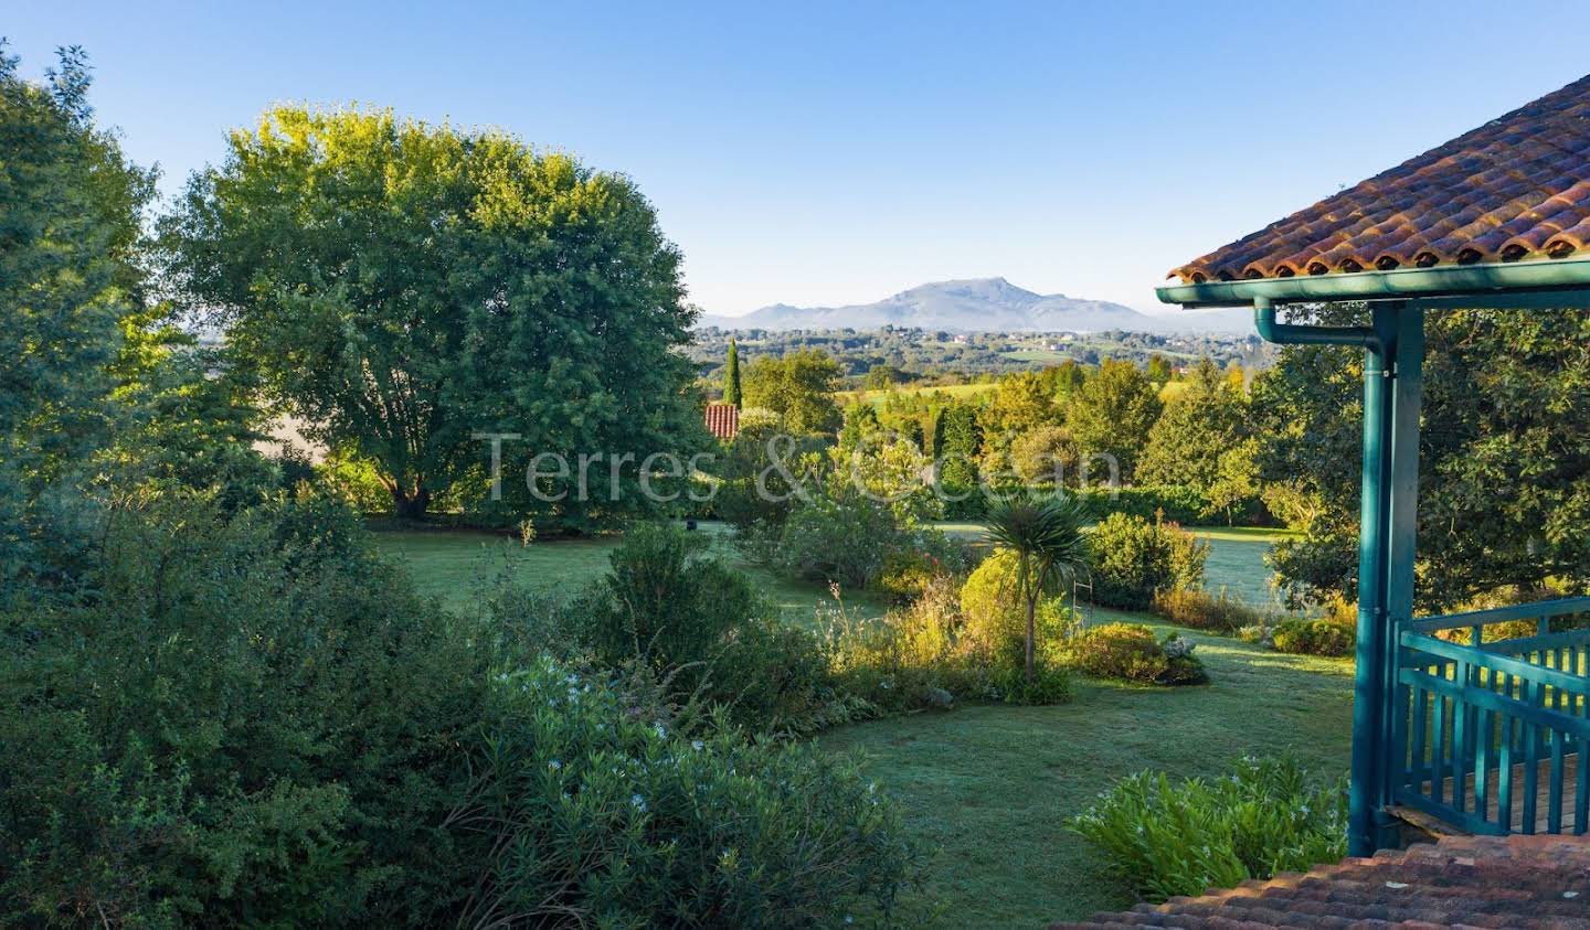
[[[1212,776],[1239,755],[1285,749],[1331,776],[1348,765],[1350,661],[1185,634],[1210,685],[1084,679],[1070,704],[959,707],[846,727],[820,742],[862,752],[905,803],[909,828],[938,849],[925,893],[946,906],[944,925],[1043,927],[1124,908],[1130,892],[1065,830],[1116,779],[1143,768]]]

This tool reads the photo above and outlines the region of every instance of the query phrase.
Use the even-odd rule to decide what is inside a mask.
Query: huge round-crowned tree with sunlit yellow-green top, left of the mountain
[[[401,515],[464,475],[480,493],[485,432],[571,458],[700,432],[671,351],[679,251],[622,175],[494,130],[277,107],[162,234],[186,296],[307,436],[377,464]]]

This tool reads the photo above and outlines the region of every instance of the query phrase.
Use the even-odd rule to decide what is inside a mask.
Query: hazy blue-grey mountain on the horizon
[[[873,304],[792,307],[773,304],[744,316],[703,315],[700,327],[719,329],[879,329],[882,326],[957,332],[1223,332],[1250,334],[1247,310],[1138,313],[1123,304],[1065,294],[1037,294],[1005,278],[933,281]]]

